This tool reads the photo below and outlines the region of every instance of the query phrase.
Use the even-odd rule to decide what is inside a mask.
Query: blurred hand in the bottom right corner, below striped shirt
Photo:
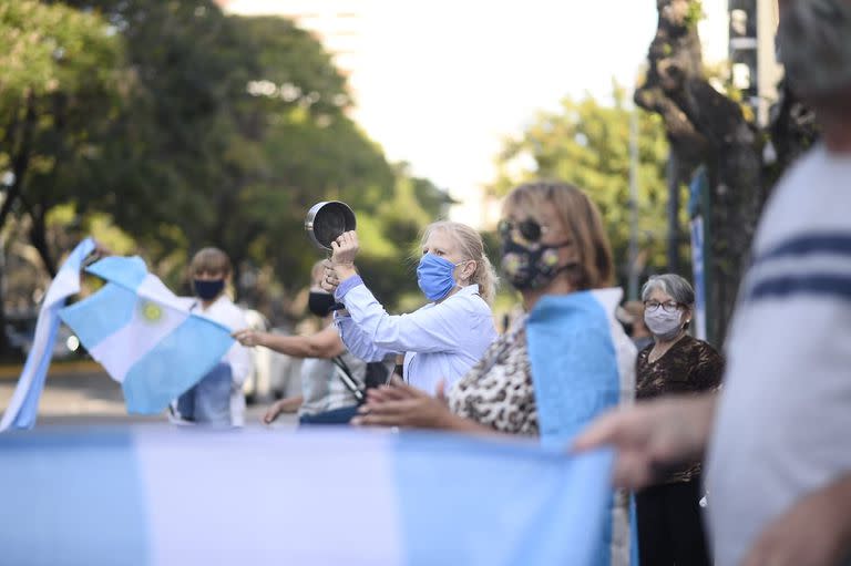
[[[802,497],[769,524],[742,566],[834,566],[848,558],[851,526],[832,491],[828,486]]]

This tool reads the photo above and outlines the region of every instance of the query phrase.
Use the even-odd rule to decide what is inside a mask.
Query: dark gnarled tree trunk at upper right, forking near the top
[[[749,107],[710,84],[697,34],[699,0],[659,0],[657,9],[649,69],[635,102],[662,116],[680,183],[688,183],[699,165],[708,169],[712,259],[707,318],[710,338],[721,343],[762,205],[816,132],[811,113],[788,91],[771,123],[760,127]]]

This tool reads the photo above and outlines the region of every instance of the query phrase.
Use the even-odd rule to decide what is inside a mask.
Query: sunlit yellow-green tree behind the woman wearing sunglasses
[[[557,112],[541,112],[522,134],[504,143],[498,159],[496,196],[535,178],[572,183],[599,207],[612,240],[623,282],[629,269],[629,121],[623,88],[615,85],[612,103],[591,96],[562,100]],[[638,247],[645,271],[664,268],[667,224],[665,168],[668,144],[662,121],[638,112]],[[683,251],[686,251],[685,249]]]

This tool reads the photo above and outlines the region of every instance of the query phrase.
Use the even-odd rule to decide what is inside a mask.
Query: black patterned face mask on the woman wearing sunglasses
[[[502,238],[502,271],[511,286],[519,290],[540,289],[555,279],[560,272],[573,267],[558,265],[558,248],[570,243],[523,245],[511,236]]]

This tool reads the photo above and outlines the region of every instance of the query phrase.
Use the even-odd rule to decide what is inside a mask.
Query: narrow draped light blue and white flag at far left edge
[[[35,424],[39,400],[44,390],[53,343],[57,341],[59,309],[65,305],[65,299],[80,292],[80,269],[83,266],[83,260],[94,250],[94,247],[95,244],[92,238],[86,238],[78,244],[50,284],[35,322],[32,348],[27,356],[27,362],[18,380],[18,385],[14,388],[14,393],[12,393],[12,399],[9,401],[9,407],[7,407],[3,419],[0,421],[0,431],[10,428],[32,429]]]

